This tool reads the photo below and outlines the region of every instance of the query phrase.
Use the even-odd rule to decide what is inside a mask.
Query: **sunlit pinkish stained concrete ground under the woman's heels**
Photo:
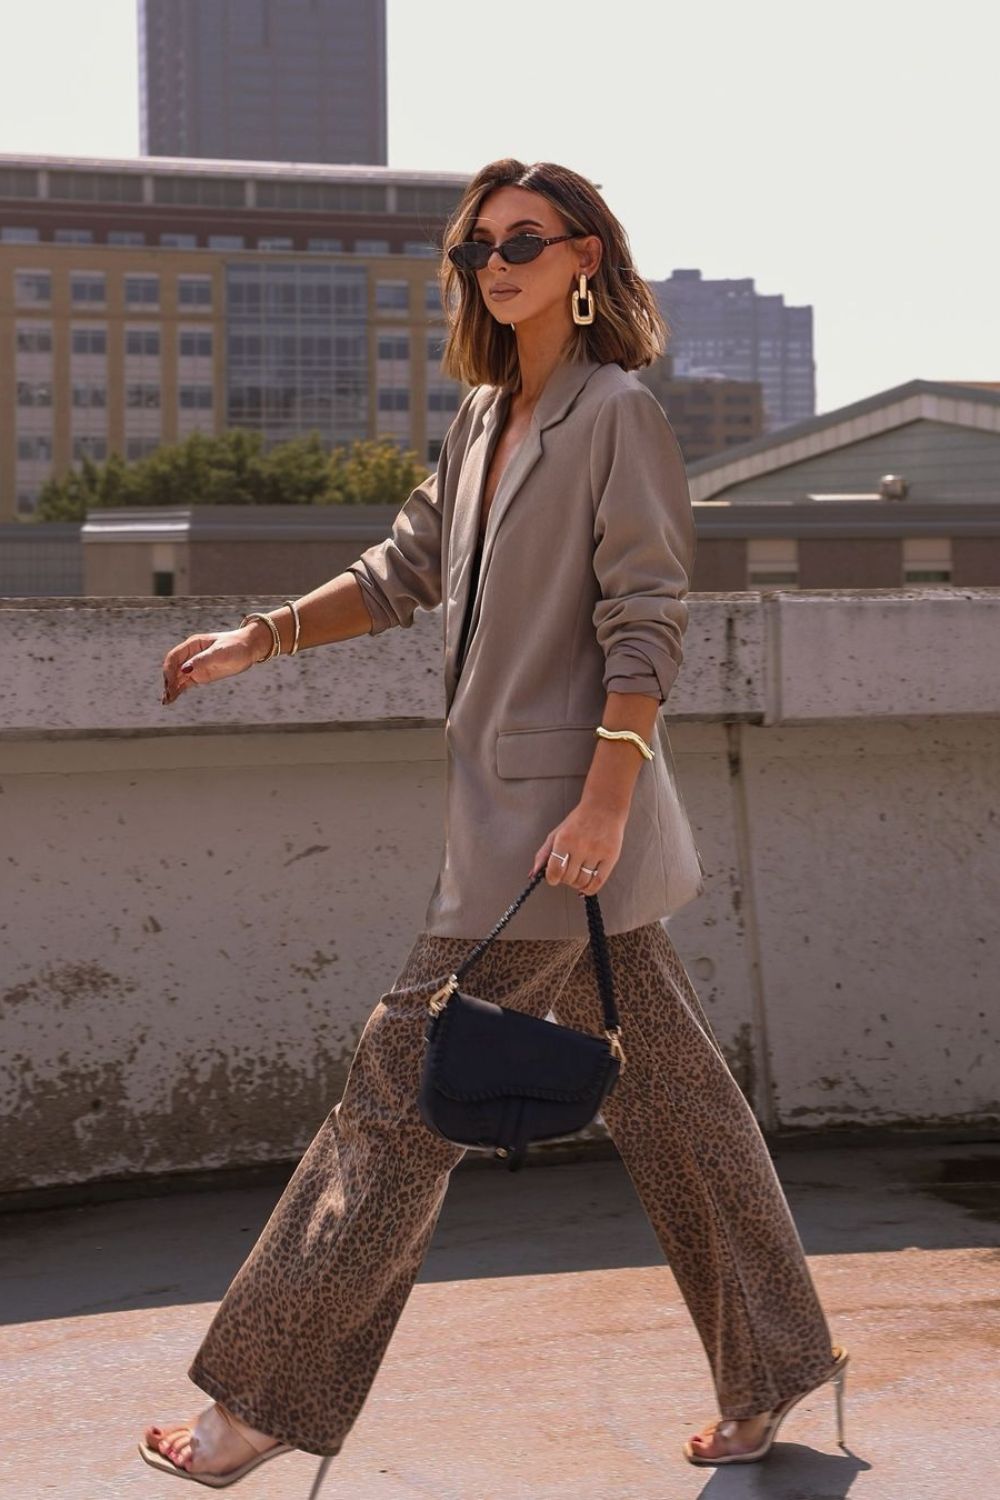
[[[621,1164],[459,1168],[322,1500],[1000,1496],[1000,1142],[775,1160],[853,1356],[844,1450],[825,1389],[765,1464],[685,1464],[708,1365]],[[207,1404],[187,1364],[279,1192],[0,1216],[3,1500],[174,1494],[138,1434]],[[279,1458],[240,1496],[303,1500],[316,1462]]]

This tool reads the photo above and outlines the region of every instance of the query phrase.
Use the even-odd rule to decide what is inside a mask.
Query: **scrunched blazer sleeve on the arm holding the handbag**
[[[664,702],[684,662],[697,537],[681,444],[645,386],[601,405],[591,482],[604,690]]]

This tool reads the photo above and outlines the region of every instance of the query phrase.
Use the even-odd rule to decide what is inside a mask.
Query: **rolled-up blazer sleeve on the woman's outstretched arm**
[[[369,634],[412,626],[417,608],[435,609],[441,603],[441,507],[448,448],[474,396],[475,390],[465,396],[441,444],[436,471],[411,490],[385,542],[369,548],[346,570],[357,578],[372,616]]]

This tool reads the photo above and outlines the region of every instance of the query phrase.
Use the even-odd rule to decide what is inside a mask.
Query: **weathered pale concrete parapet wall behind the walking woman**
[[[0,1188],[292,1158],[441,849],[439,621],[162,708],[277,600],[0,608]],[[670,921],[768,1128],[1000,1120],[1000,591],[694,596]]]

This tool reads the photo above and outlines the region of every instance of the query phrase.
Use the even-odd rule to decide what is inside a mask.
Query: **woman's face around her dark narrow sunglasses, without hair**
[[[516,234],[567,234],[558,210],[541,194],[529,188],[495,188],[480,204],[469,230],[471,240],[501,244]],[[565,318],[573,327],[570,292],[577,286],[580,272],[594,274],[601,260],[601,242],[595,234],[561,244],[546,244],[541,255],[522,266],[508,266],[496,250],[481,272],[474,272],[483,302],[498,322],[529,322],[532,318]]]

